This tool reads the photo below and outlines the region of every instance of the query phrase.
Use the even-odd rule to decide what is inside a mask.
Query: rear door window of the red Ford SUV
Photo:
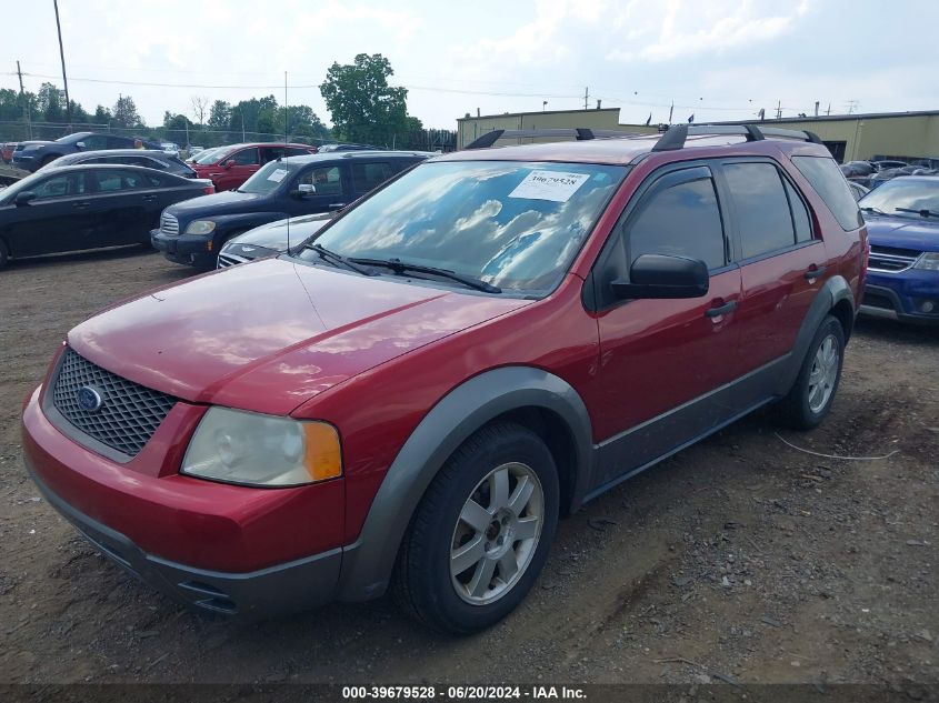
[[[743,259],[796,243],[789,199],[775,165],[728,163],[723,173],[737,213]]]

